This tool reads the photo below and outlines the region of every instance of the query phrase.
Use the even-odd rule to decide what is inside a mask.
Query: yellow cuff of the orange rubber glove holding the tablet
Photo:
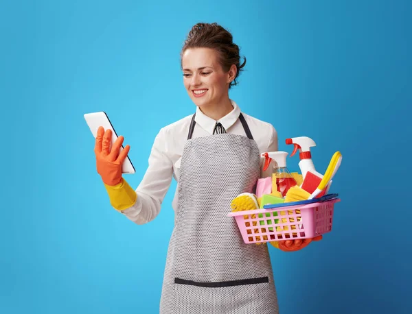
[[[127,209],[133,206],[137,200],[135,190],[124,179],[117,185],[104,184],[104,187],[108,193],[111,206],[116,210]]]

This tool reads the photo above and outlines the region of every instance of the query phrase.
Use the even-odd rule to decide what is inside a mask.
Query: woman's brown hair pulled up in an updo
[[[218,52],[220,65],[223,71],[229,71],[232,64],[236,65],[236,77],[230,83],[229,88],[238,85],[236,80],[246,64],[240,64],[239,47],[233,43],[233,36],[225,28],[217,23],[197,23],[192,27],[183,44],[181,56],[189,48],[211,48]]]

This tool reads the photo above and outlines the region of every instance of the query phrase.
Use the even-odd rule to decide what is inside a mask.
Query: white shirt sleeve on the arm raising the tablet
[[[121,212],[136,224],[147,224],[159,215],[161,203],[172,182],[173,165],[167,152],[166,132],[160,130],[152,145],[149,165],[143,180],[135,190],[137,200],[133,206]]]

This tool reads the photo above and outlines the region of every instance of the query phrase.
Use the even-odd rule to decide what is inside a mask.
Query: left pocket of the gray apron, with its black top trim
[[[222,288],[207,287],[204,282],[175,278],[173,313],[224,314]]]

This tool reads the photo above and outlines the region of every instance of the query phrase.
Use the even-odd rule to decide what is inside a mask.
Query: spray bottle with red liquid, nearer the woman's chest
[[[276,178],[277,191],[282,194],[282,197],[286,195],[288,189],[297,185],[295,178],[290,174],[286,167],[287,152],[265,152],[260,155],[264,158],[264,171],[268,169],[272,160],[275,160],[276,165],[273,165],[272,178]]]

